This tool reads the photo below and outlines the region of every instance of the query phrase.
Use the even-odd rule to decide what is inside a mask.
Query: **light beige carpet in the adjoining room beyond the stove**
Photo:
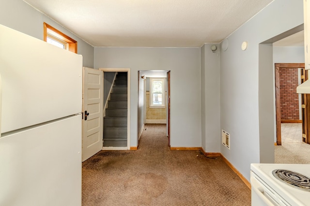
[[[302,142],[299,123],[281,124],[282,145],[275,146],[275,163],[310,164],[310,145]]]

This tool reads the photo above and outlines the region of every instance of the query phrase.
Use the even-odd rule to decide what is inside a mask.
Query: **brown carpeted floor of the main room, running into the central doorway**
[[[250,190],[221,158],[170,150],[147,124],[138,150],[102,150],[82,163],[82,206],[250,206]]]

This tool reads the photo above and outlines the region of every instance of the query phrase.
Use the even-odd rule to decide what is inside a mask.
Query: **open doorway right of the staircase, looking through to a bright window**
[[[168,146],[171,142],[171,72],[159,70],[138,71],[138,147],[145,124],[166,124]],[[161,85],[163,91],[152,92],[152,84]],[[158,88],[157,88],[158,90]],[[155,105],[152,103],[154,95]],[[159,95],[159,96],[158,96]],[[159,97],[159,99],[158,99]],[[159,100],[159,101],[158,101]],[[156,104],[160,104],[157,107]]]

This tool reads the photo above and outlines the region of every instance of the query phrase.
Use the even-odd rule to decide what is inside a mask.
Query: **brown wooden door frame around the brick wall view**
[[[276,85],[276,125],[277,125],[277,145],[281,145],[281,103],[280,103],[280,68],[303,68],[304,63],[275,63],[275,85]],[[302,100],[304,99],[302,95]],[[303,117],[303,115],[302,115]],[[304,120],[304,118],[302,118]],[[304,130],[303,130],[304,132]]]

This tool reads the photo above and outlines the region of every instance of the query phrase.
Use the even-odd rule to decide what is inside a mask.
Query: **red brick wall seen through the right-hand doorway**
[[[297,68],[280,68],[281,119],[299,119]]]

